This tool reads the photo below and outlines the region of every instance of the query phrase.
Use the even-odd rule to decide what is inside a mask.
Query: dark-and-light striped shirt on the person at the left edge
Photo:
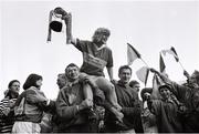
[[[11,100],[15,102],[17,99]],[[9,101],[11,100],[9,97],[4,97],[0,102],[0,133],[10,133],[12,131],[12,126],[14,123],[12,111],[3,113],[6,109],[9,109]]]

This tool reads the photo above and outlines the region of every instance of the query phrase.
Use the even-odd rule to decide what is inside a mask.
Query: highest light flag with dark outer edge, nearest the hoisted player
[[[136,59],[140,59],[139,52],[134,47],[132,47],[129,43],[127,43],[127,62],[128,62],[128,65],[133,64],[133,62]]]

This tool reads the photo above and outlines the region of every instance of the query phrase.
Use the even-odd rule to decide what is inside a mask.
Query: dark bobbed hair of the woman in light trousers
[[[30,75],[27,78],[27,80],[25,80],[25,82],[24,82],[24,84],[23,84],[23,89],[24,89],[24,90],[28,90],[28,89],[31,87],[31,86],[39,87],[39,86],[36,85],[36,81],[38,81],[38,80],[42,80],[42,76],[41,76],[41,75],[38,75],[38,74],[34,74],[34,73],[30,74]]]

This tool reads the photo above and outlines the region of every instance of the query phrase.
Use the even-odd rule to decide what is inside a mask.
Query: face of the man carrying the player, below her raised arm
[[[80,75],[78,68],[76,66],[69,66],[65,73],[67,78],[72,81],[75,81],[76,79],[78,79],[78,75]]]

